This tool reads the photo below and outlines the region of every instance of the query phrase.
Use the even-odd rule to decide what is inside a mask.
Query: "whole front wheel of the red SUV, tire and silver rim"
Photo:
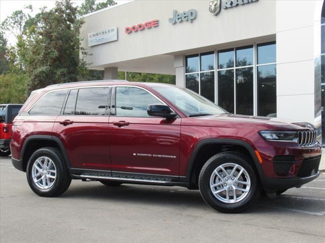
[[[252,206],[261,195],[261,184],[245,155],[222,152],[203,166],[199,187],[203,199],[213,209],[237,213]]]

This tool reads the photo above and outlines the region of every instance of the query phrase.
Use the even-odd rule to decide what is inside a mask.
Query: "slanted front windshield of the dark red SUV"
[[[176,86],[152,87],[187,116],[219,115],[228,113],[197,93]]]

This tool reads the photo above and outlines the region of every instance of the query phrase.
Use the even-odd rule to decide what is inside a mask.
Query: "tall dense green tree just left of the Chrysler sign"
[[[83,20],[70,0],[40,13],[28,52],[27,92],[50,84],[75,82],[79,74],[80,28]]]

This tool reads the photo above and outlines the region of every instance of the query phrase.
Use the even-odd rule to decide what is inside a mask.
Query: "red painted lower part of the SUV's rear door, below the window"
[[[111,170],[108,118],[89,115],[59,115],[56,118],[52,135],[62,141],[73,168]],[[59,124],[67,119],[73,124]]]

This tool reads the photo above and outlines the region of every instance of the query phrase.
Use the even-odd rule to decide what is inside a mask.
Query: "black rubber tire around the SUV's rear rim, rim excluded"
[[[35,160],[41,156],[49,157],[56,167],[56,179],[54,184],[48,189],[41,189],[32,180],[31,169]],[[39,196],[54,197],[64,193],[70,186],[71,178],[62,153],[59,149],[53,147],[44,147],[36,150],[29,158],[26,170],[29,187]]]

